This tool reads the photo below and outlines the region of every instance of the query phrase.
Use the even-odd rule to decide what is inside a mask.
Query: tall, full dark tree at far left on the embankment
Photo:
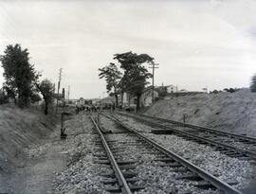
[[[38,79],[38,74],[31,65],[27,48],[22,49],[20,44],[9,44],[1,56],[0,61],[4,68],[5,90],[9,97],[18,99],[18,106],[27,107],[33,94],[33,80]]]

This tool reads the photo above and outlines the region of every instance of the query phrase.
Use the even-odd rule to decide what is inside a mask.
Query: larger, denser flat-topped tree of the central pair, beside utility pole
[[[137,111],[139,110],[139,98],[145,85],[148,84],[147,79],[152,78],[152,74],[143,66],[144,63],[153,62],[154,58],[147,54],[126,52],[114,55],[114,60],[118,60],[120,68],[124,70],[124,75],[120,80],[122,91],[126,91],[137,97]]]

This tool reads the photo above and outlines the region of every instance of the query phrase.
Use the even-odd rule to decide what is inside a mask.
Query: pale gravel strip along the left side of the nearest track
[[[63,151],[69,155],[68,167],[57,174],[55,193],[108,193],[101,183],[101,173],[109,172],[110,168],[96,164],[98,147],[95,140],[98,135],[87,115],[76,115],[66,121],[67,138],[62,141]],[[73,135],[69,135],[73,134]]]

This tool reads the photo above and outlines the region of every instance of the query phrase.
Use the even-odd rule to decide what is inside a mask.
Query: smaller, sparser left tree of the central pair
[[[109,65],[99,68],[101,72],[99,74],[100,79],[105,78],[106,80],[106,89],[109,93],[113,90],[114,97],[116,98],[116,105],[119,106],[119,81],[121,78],[121,73],[115,63],[110,62]]]

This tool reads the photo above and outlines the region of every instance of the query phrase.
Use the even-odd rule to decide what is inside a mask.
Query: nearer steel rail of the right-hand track
[[[224,143],[221,143],[221,142],[218,142],[218,141],[214,141],[214,140],[211,140],[209,138],[201,137],[201,136],[192,134],[190,132],[183,132],[183,131],[180,131],[180,130],[176,130],[176,129],[170,127],[170,126],[166,126],[166,125],[163,125],[163,124],[160,124],[160,123],[155,123],[154,121],[145,120],[143,118],[138,118],[137,115],[128,115],[128,116],[135,117],[137,119],[142,119],[142,120],[147,121],[148,123],[152,123],[153,125],[156,125],[156,126],[158,126],[160,128],[167,129],[167,130],[179,133],[179,134],[181,134],[183,136],[192,137],[193,139],[209,143],[210,145],[214,145],[214,146],[217,146],[217,147],[223,147],[225,149],[229,149],[229,150],[234,150],[236,152],[240,152],[242,154],[247,155],[251,159],[256,160],[256,152],[249,151],[249,150],[243,150],[243,149],[239,149],[239,148],[236,148],[236,147],[233,147],[233,146],[229,146],[228,144],[224,144]]]

